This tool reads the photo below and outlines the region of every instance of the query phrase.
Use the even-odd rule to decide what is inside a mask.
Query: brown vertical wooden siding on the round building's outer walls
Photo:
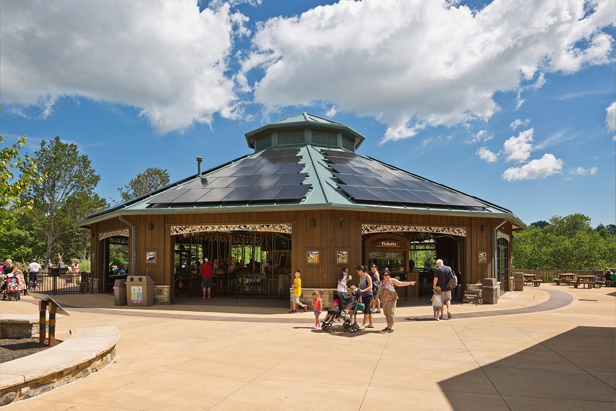
[[[169,234],[172,225],[199,225],[219,223],[291,223],[293,270],[302,272],[302,284],[314,288],[333,288],[342,268],[336,264],[336,250],[349,251],[351,273],[363,264],[362,224],[430,225],[466,228],[466,238],[460,241],[460,283],[475,283],[482,278],[493,277],[493,227],[500,223],[497,218],[451,217],[420,214],[391,214],[382,212],[357,212],[350,210],[297,210],[270,212],[240,212],[218,214],[173,214],[173,215],[132,215],[126,220],[136,226],[135,274],[149,275],[157,284],[171,284],[174,273],[174,238]],[[315,226],[310,226],[315,220]],[[342,227],[341,221],[346,225]],[[152,223],[153,229],[148,225]],[[481,226],[485,225],[485,231]],[[118,218],[92,225],[92,270],[102,278],[103,241],[98,234],[104,231],[128,228]],[[511,223],[500,229],[511,236]],[[513,237],[512,237],[513,238]],[[452,244],[446,246],[451,249]],[[445,249],[445,248],[444,248]],[[145,252],[158,252],[157,264],[145,264]],[[320,264],[309,265],[306,252],[320,251]],[[511,255],[511,243],[509,247]],[[487,264],[478,264],[477,254],[486,251]],[[438,257],[438,255],[437,255]],[[456,256],[457,259],[457,256]],[[511,264],[511,258],[509,258]],[[511,266],[510,266],[511,267]],[[353,281],[355,283],[355,281]]]

